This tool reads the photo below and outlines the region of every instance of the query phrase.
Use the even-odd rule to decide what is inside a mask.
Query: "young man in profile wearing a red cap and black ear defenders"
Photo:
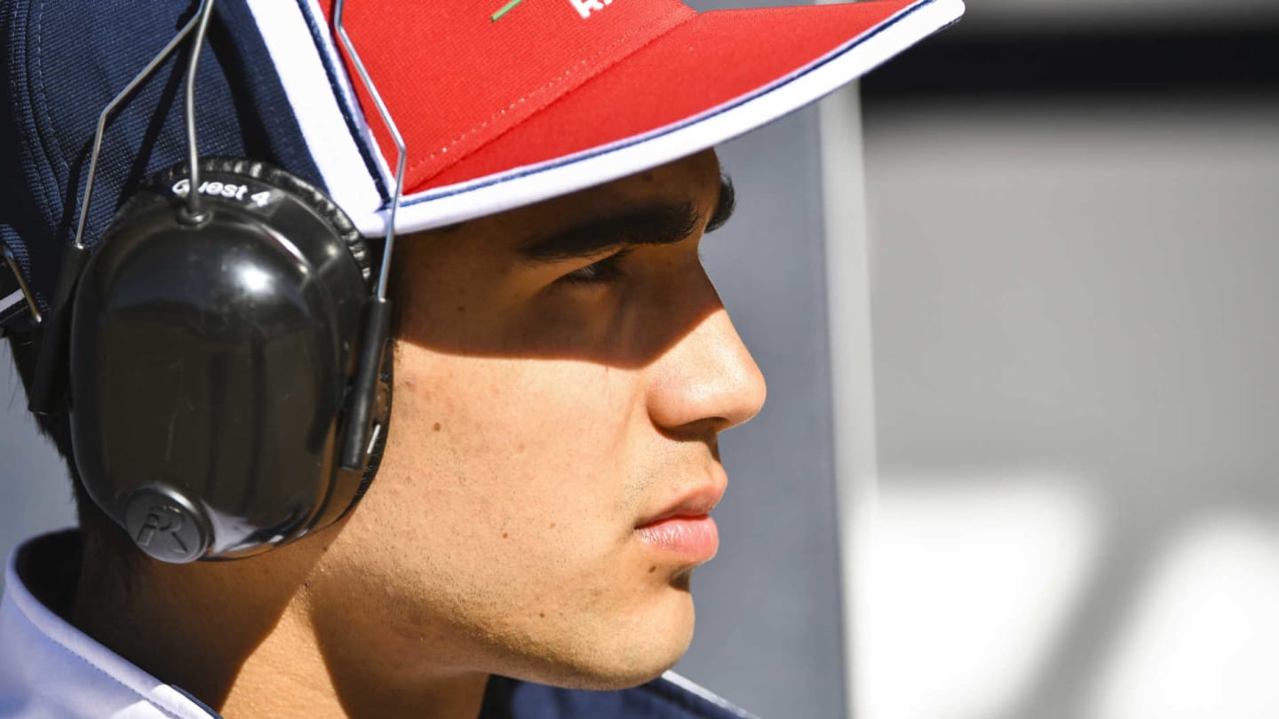
[[[17,3],[0,18],[10,49],[0,160],[15,168],[0,237],[24,280],[0,316],[37,406],[41,362],[59,357],[46,352],[59,257],[75,234],[93,122],[191,18],[168,3],[97,15],[63,4]],[[243,343],[258,353],[253,367],[292,357],[283,366],[310,377],[324,363],[295,349],[310,345],[293,342],[293,325],[244,299],[275,297],[288,276],[237,264],[265,251],[219,255],[224,264],[205,275],[240,293],[225,312],[152,303],[147,321],[164,313],[162,331],[177,333],[159,340],[138,322],[110,333],[128,324],[137,296],[200,296],[203,287],[184,283],[189,265],[221,249],[174,230],[179,239],[160,244],[180,248],[175,261],[104,290],[111,308],[95,303],[101,278],[145,265],[129,253],[141,230],[109,228],[139,188],[192,233],[203,215],[180,212],[196,188],[215,219],[249,217],[271,247],[310,252],[293,247],[310,239],[276,237],[267,215],[284,212],[284,191],[262,189],[261,174],[210,170],[215,179],[200,183],[179,166],[147,179],[189,150],[177,104],[191,60],[162,65],[110,118],[96,166],[106,197],[90,205],[84,232],[96,256],[73,275],[61,360],[73,391],[45,403],[41,420],[87,486],[82,528],[32,540],[10,562],[0,715],[741,715],[677,678],[654,679],[688,645],[689,574],[715,553],[709,512],[726,482],[716,438],[753,416],[765,393],[697,255],[733,206],[709,147],[857,77],[961,9],[889,0],[697,15],[669,0],[352,3],[344,26],[408,146],[388,274],[394,422],[372,421],[367,446],[385,450],[362,458],[363,477],[334,458],[356,425],[349,397],[310,432],[262,420],[312,391],[310,380],[276,372],[257,383],[249,372],[240,391],[208,379],[234,375],[224,365],[238,345],[214,360],[169,354],[224,342],[230,315],[256,307]],[[279,165],[344,211],[315,200],[307,223],[333,215],[343,238],[350,223],[377,237],[395,151],[350,79],[333,10],[219,3],[196,67],[198,148]],[[132,226],[134,205],[110,226]],[[376,275],[376,248],[350,242],[333,262]],[[336,362],[349,366],[343,377],[358,363],[350,344]],[[106,386],[86,376],[98,361]],[[272,431],[240,431],[258,421]],[[324,440],[315,467],[275,466],[294,435]],[[147,475],[138,478],[120,467],[152,470],[133,470]],[[261,495],[289,495],[281,502],[293,507],[285,478],[308,472],[339,489],[302,519],[260,517]],[[224,502],[238,473],[260,480]],[[350,477],[363,480],[358,490],[341,484]],[[128,482],[142,484],[116,491]]]

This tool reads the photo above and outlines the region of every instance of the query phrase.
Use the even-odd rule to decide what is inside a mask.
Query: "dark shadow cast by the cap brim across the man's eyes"
[[[723,311],[697,247],[732,207],[705,152],[407,237],[393,265],[398,338],[449,354],[643,367]]]

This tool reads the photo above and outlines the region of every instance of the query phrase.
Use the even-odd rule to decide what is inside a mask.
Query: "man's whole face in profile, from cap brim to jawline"
[[[719,200],[703,152],[399,243],[390,438],[308,585],[321,642],[381,681],[679,659],[714,544],[660,519],[719,499],[716,436],[765,394],[697,253]]]

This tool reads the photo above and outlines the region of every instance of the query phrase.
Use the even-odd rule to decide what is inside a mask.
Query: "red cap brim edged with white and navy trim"
[[[509,210],[712,147],[857,79],[963,10],[962,0],[875,0],[698,14],[408,188],[396,230]],[[389,187],[384,161],[380,170]],[[335,200],[366,235],[385,232],[388,210],[367,205],[368,193],[365,207]]]

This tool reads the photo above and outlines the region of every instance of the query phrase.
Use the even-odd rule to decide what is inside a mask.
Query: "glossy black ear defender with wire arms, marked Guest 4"
[[[215,0],[98,118],[75,241],[41,322],[36,412],[70,412],[88,495],[152,558],[233,559],[338,521],[377,470],[391,403],[386,301],[404,143],[379,275],[350,219],[289,173],[200,159],[194,78]],[[188,36],[189,157],[83,243],[106,122]],[[69,367],[69,377],[67,376]]]

